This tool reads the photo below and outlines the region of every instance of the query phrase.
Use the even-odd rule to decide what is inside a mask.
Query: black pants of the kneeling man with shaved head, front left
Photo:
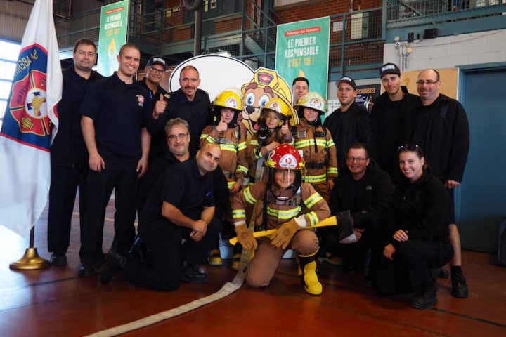
[[[146,288],[174,291],[179,289],[182,263],[199,265],[207,258],[207,252],[219,236],[221,222],[214,218],[207,226],[207,233],[198,242],[190,239],[190,228],[167,223],[152,226],[139,233],[150,253],[151,263],[129,259],[124,274],[126,279]],[[181,245],[181,240],[186,239]]]

